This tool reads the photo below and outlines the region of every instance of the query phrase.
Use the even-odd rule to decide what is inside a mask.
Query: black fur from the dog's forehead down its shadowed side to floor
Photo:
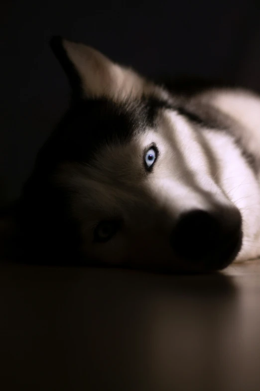
[[[55,188],[52,173],[62,162],[90,163],[104,143],[129,142],[156,123],[165,102],[154,98],[116,104],[107,99],[79,100],[38,153],[16,213],[19,230],[13,258],[26,263],[79,264],[79,223],[73,220],[70,195]]]

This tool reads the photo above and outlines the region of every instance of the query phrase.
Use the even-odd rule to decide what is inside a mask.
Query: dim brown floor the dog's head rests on
[[[260,262],[209,276],[0,266],[0,387],[260,391]]]

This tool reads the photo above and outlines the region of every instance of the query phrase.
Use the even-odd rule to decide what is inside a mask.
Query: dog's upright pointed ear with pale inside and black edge
[[[74,95],[119,100],[156,89],[131,69],[83,43],[53,37],[50,45],[69,78]]]

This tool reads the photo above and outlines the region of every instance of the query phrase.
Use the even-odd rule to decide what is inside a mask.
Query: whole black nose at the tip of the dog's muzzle
[[[185,261],[221,269],[232,262],[242,244],[242,218],[238,209],[218,213],[192,210],[182,214],[171,234],[171,245]]]

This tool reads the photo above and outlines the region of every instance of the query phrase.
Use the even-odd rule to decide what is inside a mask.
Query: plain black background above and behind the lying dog
[[[19,195],[69,100],[58,34],[148,76],[224,78],[260,90],[260,1],[4,0],[0,5],[0,204]]]

